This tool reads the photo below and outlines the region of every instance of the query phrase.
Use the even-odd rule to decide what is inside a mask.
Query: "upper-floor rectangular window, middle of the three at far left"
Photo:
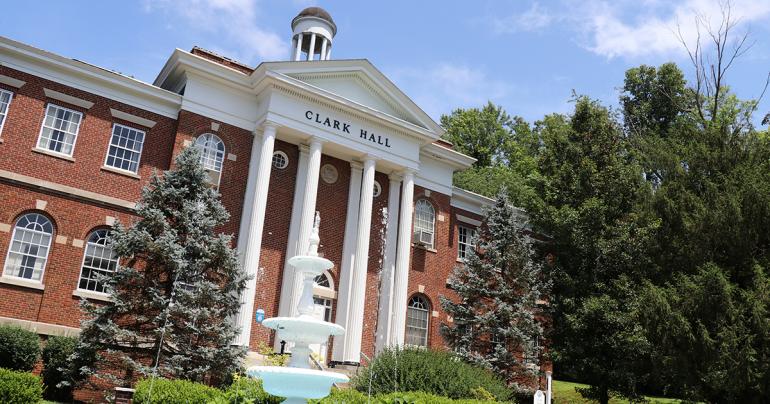
[[[48,104],[37,147],[72,156],[82,119],[83,114],[80,112]]]

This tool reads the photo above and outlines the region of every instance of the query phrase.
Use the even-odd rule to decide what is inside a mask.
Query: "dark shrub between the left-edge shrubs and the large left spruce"
[[[45,397],[54,401],[72,400],[69,357],[75,351],[77,338],[50,337],[43,348],[43,384]],[[65,382],[65,385],[57,386]]]

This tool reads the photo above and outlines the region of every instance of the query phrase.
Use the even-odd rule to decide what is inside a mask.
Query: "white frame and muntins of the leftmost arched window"
[[[21,222],[22,219],[24,219],[24,218],[26,218],[28,216],[38,216],[38,217],[41,217],[41,218],[45,219],[45,221],[48,222],[48,225],[51,228],[51,232],[50,233],[46,233],[45,231],[29,229],[27,227],[24,227],[24,228],[20,229],[19,228],[19,222]],[[29,219],[27,219],[27,220],[30,221]],[[35,220],[35,223],[41,224],[41,222],[37,221],[37,218]],[[42,227],[44,227],[44,226],[42,226]],[[17,234],[18,234],[19,230],[25,232],[25,234],[21,235],[21,240],[16,240],[16,237],[17,237]],[[27,236],[26,233],[30,234],[29,237],[26,237]],[[46,217],[45,215],[43,215],[41,213],[30,212],[30,213],[26,213],[24,215],[21,215],[18,219],[16,219],[16,222],[14,222],[14,225],[13,225],[13,233],[11,234],[11,239],[8,242],[8,253],[5,256],[5,265],[3,265],[3,275],[2,276],[3,277],[9,277],[9,278],[15,278],[15,279],[24,279],[25,281],[28,281],[28,282],[34,282],[34,283],[42,284],[43,283],[43,277],[45,276],[45,267],[46,267],[46,265],[48,265],[48,257],[51,255],[51,244],[52,244],[52,241],[53,241],[53,238],[54,238],[54,233],[56,233],[56,229],[55,229],[55,227],[53,225],[53,222],[51,221],[51,219],[49,219],[48,217]],[[32,244],[32,243],[30,243],[31,240],[29,240],[29,239],[31,239],[35,235],[39,235],[40,236],[41,242]],[[47,237],[47,239],[48,239],[47,243],[42,243],[42,239],[45,238],[45,237]],[[27,238],[29,238],[29,239],[25,241],[25,239],[27,239]],[[14,242],[19,242],[21,244],[22,251],[26,250],[26,252],[13,251]],[[36,252],[34,254],[30,254],[29,253],[30,246],[35,246],[36,247]],[[42,255],[42,256],[38,255],[41,247],[45,248],[45,255]],[[35,276],[34,276],[35,275],[34,264],[32,266],[32,273],[30,274],[29,278],[27,278],[26,276],[19,276],[18,272],[21,269],[21,267],[15,267],[15,268],[11,268],[10,267],[11,255],[20,255],[22,257],[21,261],[24,261],[24,259],[27,258],[27,257],[34,257],[34,259],[36,261],[37,260],[42,260],[43,263],[42,263],[42,265],[40,267],[40,276],[37,279],[35,279]],[[14,271],[14,272],[10,273],[9,271]]]

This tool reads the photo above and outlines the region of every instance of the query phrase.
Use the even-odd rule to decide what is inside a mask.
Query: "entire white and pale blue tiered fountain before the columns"
[[[299,300],[297,317],[273,317],[262,321],[262,325],[276,331],[278,340],[293,342],[288,367],[253,366],[247,370],[249,376],[262,379],[266,392],[286,397],[284,403],[305,403],[306,399],[323,398],[329,395],[334,383],[347,383],[348,377],[339,373],[310,368],[311,344],[322,344],[331,335],[342,335],[345,329],[337,324],[321,321],[313,314],[313,282],[315,277],[330,269],[334,264],[318,256],[318,227],[320,217],[316,212],[313,231],[310,234],[310,248],[307,255],[289,258],[303,278],[302,296]]]

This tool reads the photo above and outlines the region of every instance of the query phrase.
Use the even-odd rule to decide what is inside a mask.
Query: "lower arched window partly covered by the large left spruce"
[[[105,285],[102,278],[115,272],[117,266],[118,257],[112,251],[109,230],[100,229],[92,232],[88,236],[86,251],[83,255],[78,289],[104,293]]]

